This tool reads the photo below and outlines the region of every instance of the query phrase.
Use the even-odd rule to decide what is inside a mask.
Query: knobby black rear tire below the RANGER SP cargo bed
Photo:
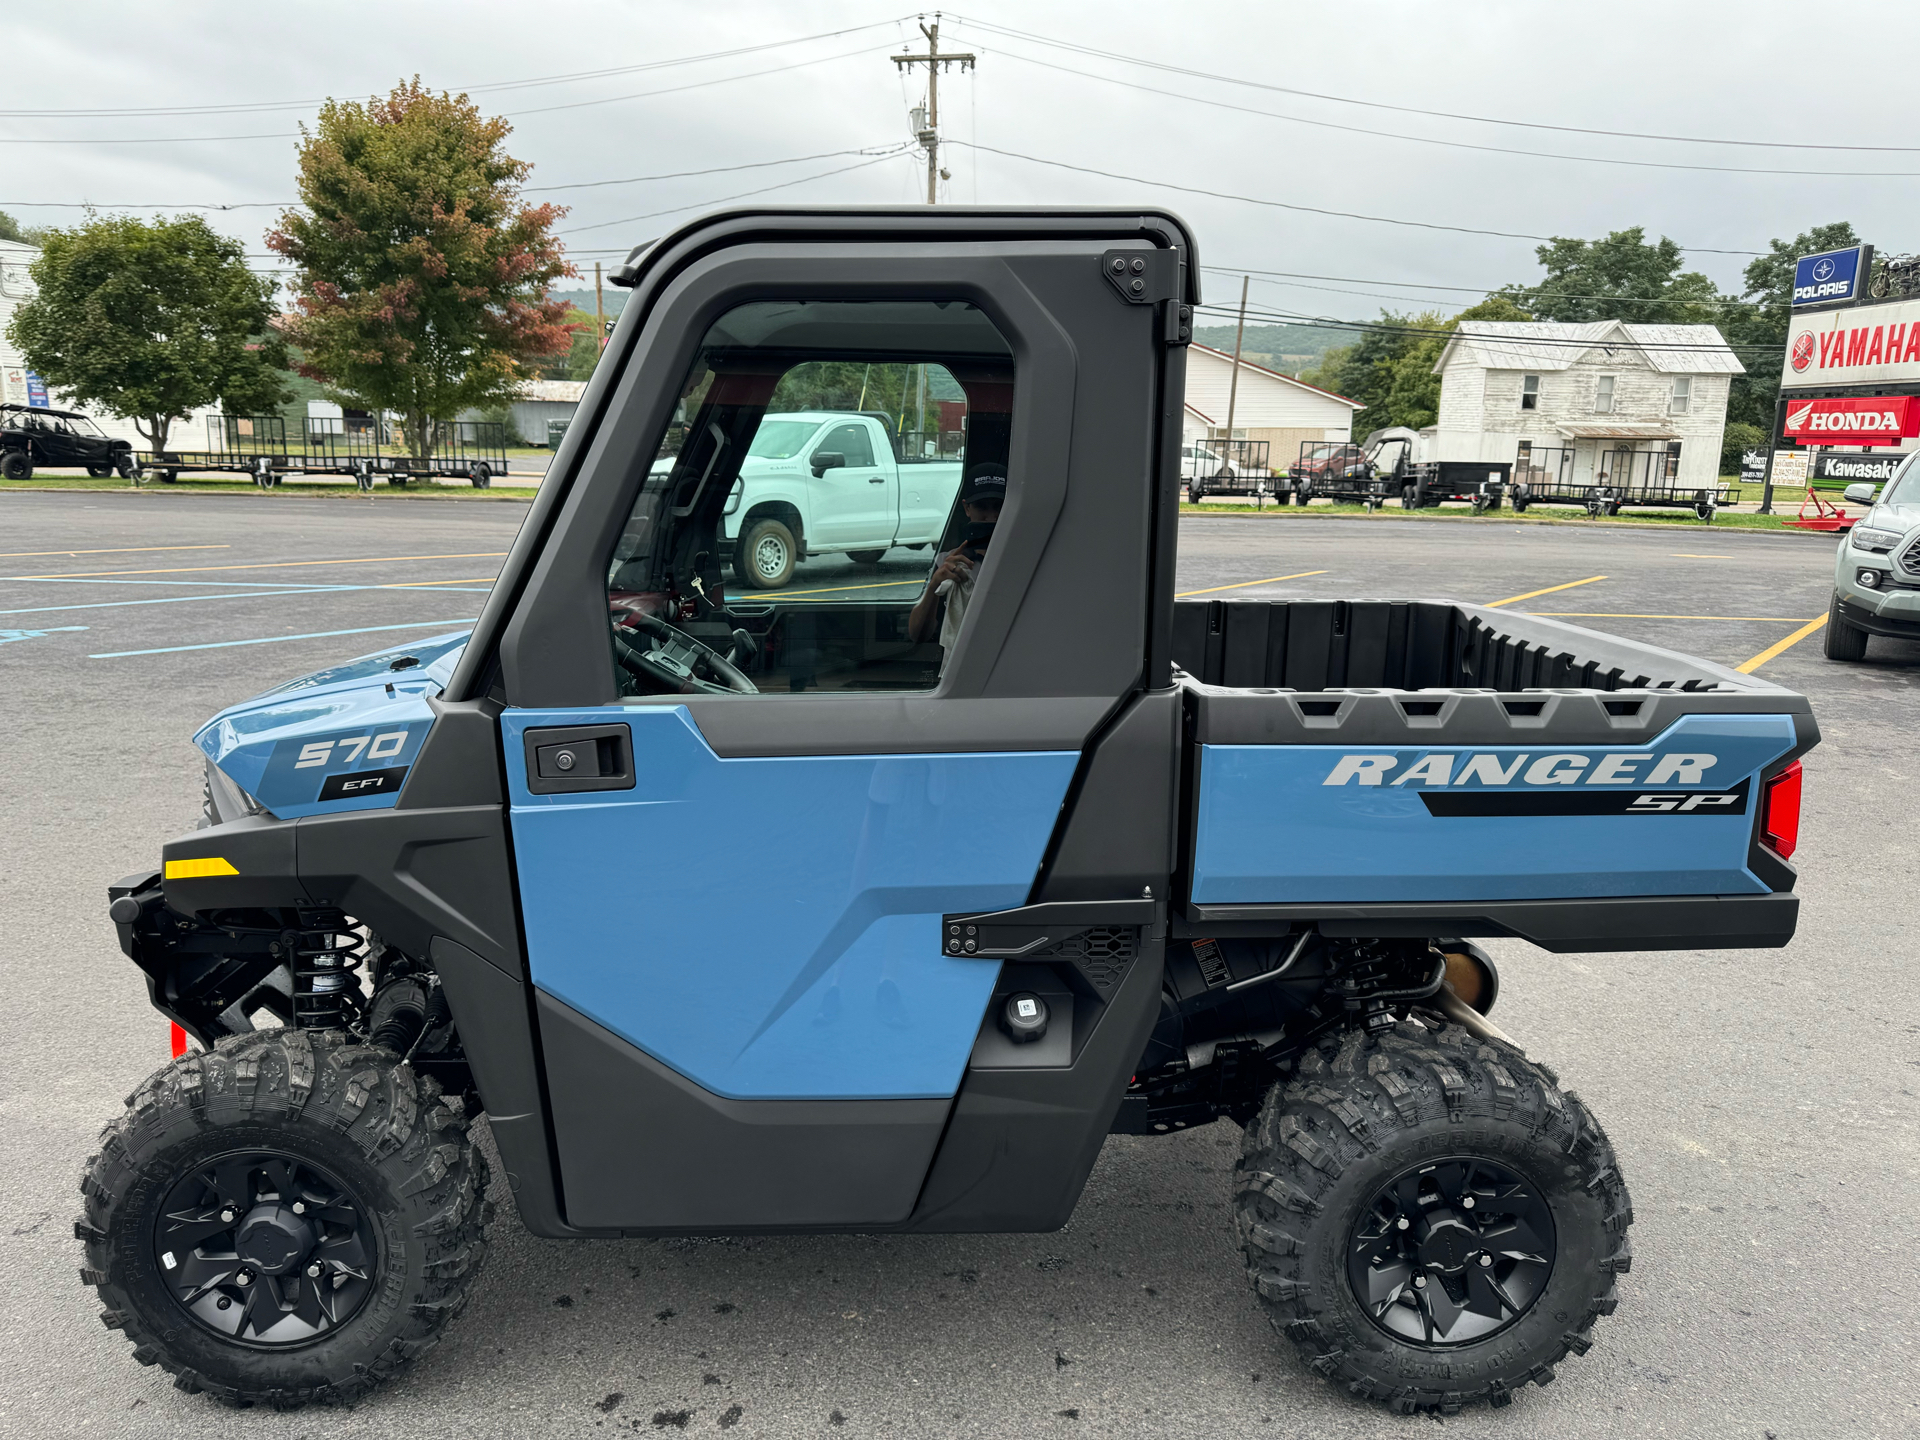
[[[1477,1209],[1402,1207],[1414,1218],[1398,1228],[1400,1209],[1383,1203],[1397,1187],[1408,1187],[1400,1195],[1410,1201],[1445,1199],[1464,1172],[1481,1191]],[[1504,1406],[1527,1381],[1546,1385],[1556,1362],[1593,1345],[1594,1318],[1614,1312],[1616,1276],[1629,1266],[1627,1185],[1587,1107],[1518,1047],[1460,1026],[1400,1022],[1310,1051],[1249,1122],[1233,1191],[1247,1274],[1276,1330],[1333,1385],[1402,1414],[1452,1414],[1471,1401]],[[1504,1207],[1531,1212],[1531,1239],[1496,1235],[1491,1222]],[[1475,1239],[1483,1228],[1485,1251]],[[1489,1331],[1462,1312],[1456,1333],[1483,1333],[1454,1345],[1410,1339],[1404,1331],[1431,1314],[1412,1289],[1423,1270],[1416,1260],[1402,1301],[1383,1307],[1395,1320],[1375,1320],[1362,1303],[1362,1276],[1379,1258],[1370,1253],[1391,1253],[1398,1235],[1418,1255],[1423,1232],[1435,1237],[1427,1255],[1445,1251],[1448,1232],[1466,1239],[1456,1251],[1466,1266],[1450,1276],[1425,1270],[1429,1287],[1495,1280],[1520,1299],[1520,1314]],[[1531,1251],[1548,1264],[1506,1258]],[[1473,1278],[1479,1255],[1491,1264]],[[1381,1305],[1379,1293],[1374,1301]],[[1402,1333],[1389,1330],[1395,1324]]]

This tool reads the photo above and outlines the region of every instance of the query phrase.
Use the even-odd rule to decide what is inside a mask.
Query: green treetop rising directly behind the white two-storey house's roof
[[[1606,240],[1556,236],[1535,248],[1546,279],[1510,284],[1496,294],[1541,321],[1717,323],[1723,305],[1714,281],[1683,271],[1681,256],[1681,246],[1667,236],[1648,244],[1639,225],[1614,231]]]

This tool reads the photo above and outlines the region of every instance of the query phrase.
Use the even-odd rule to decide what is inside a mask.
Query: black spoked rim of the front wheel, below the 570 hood
[[[161,1283],[198,1326],[263,1349],[307,1345],[375,1289],[365,1205],[323,1166],[232,1151],[194,1166],[154,1224]]]

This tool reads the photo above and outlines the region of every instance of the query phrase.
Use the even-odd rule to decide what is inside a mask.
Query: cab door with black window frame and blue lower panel
[[[1147,492],[1179,386],[1170,411],[1164,315],[1106,265],[1122,244],[1166,284],[1174,256],[1139,217],[1003,252],[868,223],[644,282],[455,676],[503,699],[572,1226],[909,1224],[999,976],[947,951],[943,918],[1033,895],[1083,747],[1166,674],[1147,617],[1172,567],[1155,578],[1151,509],[1114,486]],[[1007,467],[1009,500],[951,651],[909,632],[924,576],[726,596],[713,534],[740,457],[782,377],[828,359],[939,363],[970,403],[1001,398],[964,459]],[[684,398],[690,440],[659,469]],[[688,680],[638,651],[692,657]],[[1085,1107],[1097,1136],[1112,1095],[1035,1114]]]

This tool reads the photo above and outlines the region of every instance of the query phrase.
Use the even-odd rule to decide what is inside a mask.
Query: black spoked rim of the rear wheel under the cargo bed
[[[1347,1278],[1398,1341],[1458,1347],[1506,1330],[1554,1272],[1541,1189],[1493,1160],[1450,1157],[1402,1172],[1354,1220]]]

